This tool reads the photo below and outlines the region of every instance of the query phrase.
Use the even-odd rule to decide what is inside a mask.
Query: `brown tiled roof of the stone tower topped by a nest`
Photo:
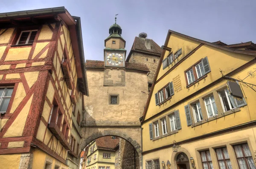
[[[150,41],[150,45],[151,45],[151,49],[150,50],[145,47],[145,40],[149,40]],[[133,51],[147,53],[147,54],[152,54],[152,55],[160,57],[163,50],[161,49],[161,47],[159,45],[157,45],[156,42],[154,42],[153,39],[147,39],[147,38],[142,38],[142,37],[135,37],[134,43],[133,43],[133,45],[131,47],[131,51],[130,51],[126,61],[129,60],[129,58],[131,56],[131,53]]]

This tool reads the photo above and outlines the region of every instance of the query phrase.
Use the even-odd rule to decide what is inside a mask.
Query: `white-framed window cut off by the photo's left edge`
[[[11,96],[13,87],[0,87],[0,113],[6,113]]]

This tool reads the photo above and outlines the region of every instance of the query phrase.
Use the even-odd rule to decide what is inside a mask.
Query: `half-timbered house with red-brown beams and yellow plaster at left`
[[[78,168],[81,42],[64,7],[0,14],[0,168]]]

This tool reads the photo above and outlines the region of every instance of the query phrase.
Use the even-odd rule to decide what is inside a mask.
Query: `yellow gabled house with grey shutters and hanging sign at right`
[[[142,118],[143,169],[255,169],[253,50],[168,31]]]

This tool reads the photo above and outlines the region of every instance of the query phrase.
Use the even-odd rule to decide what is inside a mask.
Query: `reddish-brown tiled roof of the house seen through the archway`
[[[112,136],[97,138],[95,141],[98,149],[113,150],[119,144],[119,138],[113,139]]]

